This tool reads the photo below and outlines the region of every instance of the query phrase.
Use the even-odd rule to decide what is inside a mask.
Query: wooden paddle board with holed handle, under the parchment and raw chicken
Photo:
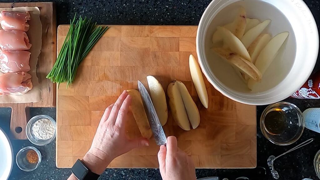
[[[15,139],[27,139],[26,125],[30,119],[30,107],[54,107],[56,104],[56,86],[45,77],[52,69],[57,58],[56,49],[56,14],[53,3],[0,3],[0,8],[6,7],[39,7],[40,20],[42,23],[42,48],[38,58],[37,77],[41,88],[42,101],[34,103],[0,104],[0,107],[10,107],[12,109],[10,131]]]

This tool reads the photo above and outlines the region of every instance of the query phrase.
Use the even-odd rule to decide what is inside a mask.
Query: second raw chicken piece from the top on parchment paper
[[[6,50],[28,50],[31,47],[26,32],[18,30],[0,30],[0,47]]]

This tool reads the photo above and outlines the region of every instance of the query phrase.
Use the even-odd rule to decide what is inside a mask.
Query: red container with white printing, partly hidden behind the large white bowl
[[[296,99],[320,99],[320,71],[312,75],[291,97]]]

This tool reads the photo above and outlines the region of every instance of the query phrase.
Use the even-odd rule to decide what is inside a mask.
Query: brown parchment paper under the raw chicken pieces
[[[31,19],[28,21],[30,28],[26,32],[29,41],[32,44],[30,50],[30,71],[32,89],[23,95],[3,95],[0,96],[0,103],[28,103],[28,102],[39,102],[41,101],[41,89],[39,86],[39,79],[36,75],[36,66],[38,63],[38,57],[41,51],[42,45],[42,24],[40,21],[40,10],[38,7],[15,7],[15,8],[0,8],[1,11],[15,11],[15,12],[30,12]],[[0,27],[1,29],[1,27]],[[0,71],[0,75],[3,72]]]

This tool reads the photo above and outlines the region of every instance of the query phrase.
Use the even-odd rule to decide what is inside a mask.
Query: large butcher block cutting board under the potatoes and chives
[[[58,27],[58,50],[69,26]],[[189,72],[188,58],[196,57],[197,26],[110,26],[78,69],[75,82],[57,90],[58,168],[70,168],[89,149],[107,106],[126,89],[138,89],[137,80],[148,87],[146,76],[155,76],[166,92],[168,84],[182,81],[196,102],[201,122],[198,128],[182,130],[172,119],[164,126],[178,146],[193,159],[196,168],[256,167],[256,107],[224,97],[205,79],[209,108],[197,97]],[[168,100],[168,99],[167,99]],[[129,137],[140,132],[128,113]],[[153,137],[149,147],[130,151],[109,168],[158,168]]]

